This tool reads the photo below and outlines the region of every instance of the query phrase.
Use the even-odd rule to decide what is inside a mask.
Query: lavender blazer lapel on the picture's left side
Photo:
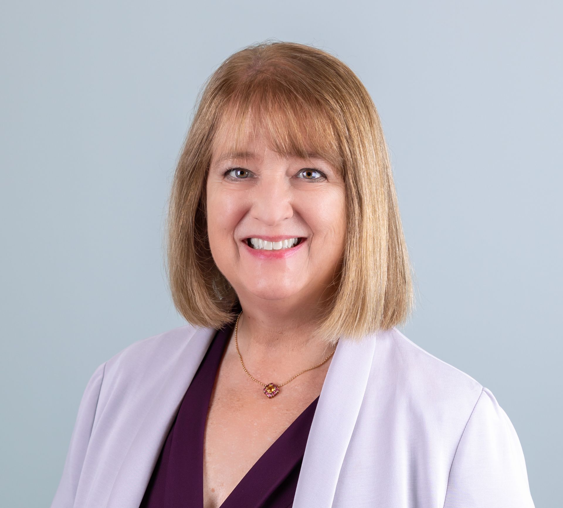
[[[140,505],[182,398],[214,335],[212,328],[196,328],[194,335],[186,341],[175,368],[163,382],[119,468],[107,508]]]

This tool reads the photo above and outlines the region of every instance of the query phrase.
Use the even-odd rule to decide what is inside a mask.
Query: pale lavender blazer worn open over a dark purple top
[[[138,508],[215,330],[186,325],[96,369],[51,508]],[[519,438],[490,390],[398,329],[340,340],[293,508],[533,508]]]

